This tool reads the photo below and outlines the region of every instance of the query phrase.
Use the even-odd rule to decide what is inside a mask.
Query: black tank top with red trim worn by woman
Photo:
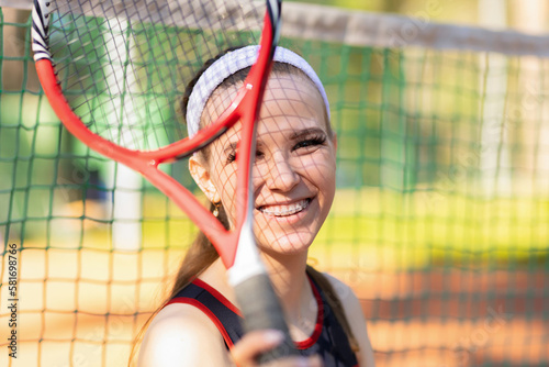
[[[311,278],[309,280],[316,298],[318,312],[313,334],[307,340],[295,343],[299,353],[303,356],[320,355],[325,367],[357,367],[356,354],[326,302],[326,296]],[[244,334],[239,310],[217,290],[200,279],[195,279],[183,288],[166,305],[171,303],[191,304],[204,312],[217,326],[227,348],[232,348]]]

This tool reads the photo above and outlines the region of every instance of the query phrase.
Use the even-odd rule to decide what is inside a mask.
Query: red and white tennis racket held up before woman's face
[[[266,10],[264,11],[264,8]],[[247,331],[277,329],[285,343],[261,362],[295,354],[253,233],[256,118],[280,32],[281,0],[35,0],[33,51],[49,103],[91,149],[149,180],[203,231],[229,273]],[[231,46],[260,52],[232,105],[192,138],[177,101],[202,64]],[[188,157],[237,121],[237,211],[223,225],[160,164]]]

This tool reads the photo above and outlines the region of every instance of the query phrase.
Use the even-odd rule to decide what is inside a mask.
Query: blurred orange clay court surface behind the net
[[[180,251],[24,251],[18,359],[4,349],[0,365],[124,366],[134,333],[160,302],[180,256]],[[547,271],[332,273],[362,302],[377,366],[549,363]],[[4,310],[2,304],[2,335]]]

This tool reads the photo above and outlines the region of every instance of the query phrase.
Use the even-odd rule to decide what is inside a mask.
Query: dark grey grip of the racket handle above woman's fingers
[[[282,307],[267,274],[260,274],[235,286],[236,298],[244,315],[244,330],[279,330],[284,340],[273,349],[262,354],[258,363],[266,364],[282,357],[295,356],[298,351],[290,337]]]

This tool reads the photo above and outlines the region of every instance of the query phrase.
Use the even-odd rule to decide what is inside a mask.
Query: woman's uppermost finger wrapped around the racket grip
[[[255,362],[257,356],[272,349],[283,338],[284,335],[277,330],[254,331],[244,335],[233,349],[231,349],[231,354],[238,366],[257,366]]]

